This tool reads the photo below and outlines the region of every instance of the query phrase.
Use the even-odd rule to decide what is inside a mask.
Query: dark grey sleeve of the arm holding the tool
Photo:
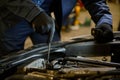
[[[4,6],[12,13],[24,17],[29,22],[43,11],[32,0],[4,0]]]

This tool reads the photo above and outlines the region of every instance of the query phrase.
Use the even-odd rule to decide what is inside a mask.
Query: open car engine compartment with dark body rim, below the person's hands
[[[0,80],[119,80],[120,64],[87,57],[119,54],[120,41],[98,44],[82,37],[52,43],[50,63],[47,44],[11,53],[0,59]]]

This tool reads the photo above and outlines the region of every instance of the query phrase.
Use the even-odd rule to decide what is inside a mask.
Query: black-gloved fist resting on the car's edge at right
[[[112,27],[109,24],[101,24],[91,30],[91,34],[98,43],[110,42],[113,40]]]

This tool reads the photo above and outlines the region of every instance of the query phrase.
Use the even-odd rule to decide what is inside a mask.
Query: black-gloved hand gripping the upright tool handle
[[[45,12],[41,12],[33,21],[32,25],[38,33],[48,33],[52,28],[55,28],[54,20]]]

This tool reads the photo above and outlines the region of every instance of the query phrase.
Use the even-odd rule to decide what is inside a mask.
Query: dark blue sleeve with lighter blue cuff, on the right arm
[[[112,25],[112,15],[109,12],[106,0],[82,0],[82,2],[95,24],[107,23]]]

